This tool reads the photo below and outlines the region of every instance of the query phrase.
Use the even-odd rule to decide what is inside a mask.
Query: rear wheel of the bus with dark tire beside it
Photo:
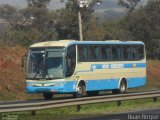
[[[113,94],[125,94],[127,93],[127,82],[125,79],[121,80],[119,89],[112,90]]]

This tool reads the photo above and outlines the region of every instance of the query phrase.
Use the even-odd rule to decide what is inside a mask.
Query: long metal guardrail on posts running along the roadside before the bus
[[[108,96],[96,96],[96,97],[84,97],[69,100],[56,100],[56,101],[44,101],[37,103],[12,103],[12,104],[0,104],[0,113],[3,112],[18,112],[18,111],[33,111],[35,114],[36,110],[60,108],[67,106],[77,106],[77,110],[80,110],[80,105],[93,104],[93,103],[104,103],[104,102],[117,102],[117,105],[121,104],[121,101],[153,98],[153,101],[157,101],[160,97],[160,91],[141,92],[141,93],[129,93],[119,95],[108,95]]]

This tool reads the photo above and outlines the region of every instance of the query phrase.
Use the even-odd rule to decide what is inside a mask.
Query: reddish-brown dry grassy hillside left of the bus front
[[[0,99],[24,99],[25,81],[21,68],[22,47],[0,48]]]

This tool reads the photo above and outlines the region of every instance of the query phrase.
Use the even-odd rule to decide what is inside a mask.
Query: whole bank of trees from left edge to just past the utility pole
[[[104,33],[91,13],[100,0],[93,0],[87,7],[80,8],[77,0],[68,0],[65,9],[50,11],[46,7],[50,0],[27,0],[28,7],[18,10],[12,6],[2,6],[0,15],[12,26],[5,32],[5,44],[27,46],[35,42],[55,39],[79,39],[78,12],[82,15],[84,38],[101,40]],[[8,18],[7,18],[8,17]],[[92,21],[91,23],[89,23]],[[92,27],[91,27],[92,26]],[[94,27],[94,28],[93,28]],[[92,36],[92,33],[96,36]]]

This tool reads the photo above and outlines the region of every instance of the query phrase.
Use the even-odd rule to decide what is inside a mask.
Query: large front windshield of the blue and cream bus
[[[28,79],[64,78],[64,49],[30,49],[26,72]]]

